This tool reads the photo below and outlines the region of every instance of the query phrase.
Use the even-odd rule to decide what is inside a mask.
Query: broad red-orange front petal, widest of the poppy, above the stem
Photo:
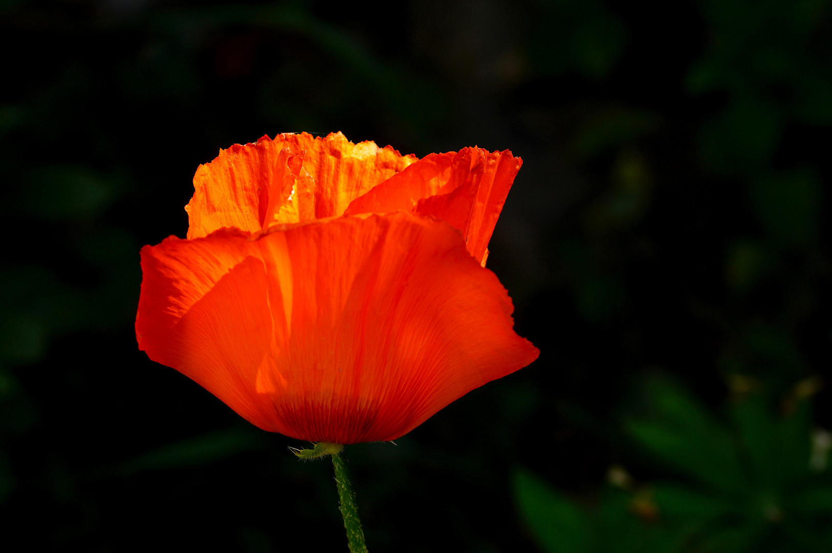
[[[302,440],[393,440],[538,354],[497,277],[430,218],[171,237],[141,257],[141,349]]]

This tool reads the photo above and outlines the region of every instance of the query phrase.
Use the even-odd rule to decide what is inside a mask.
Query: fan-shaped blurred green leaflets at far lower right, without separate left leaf
[[[664,381],[652,382],[651,419],[627,426],[646,451],[696,481],[651,487],[657,516],[686,536],[670,551],[830,551],[820,536],[832,522],[832,492],[815,475],[826,469],[832,435],[811,433],[808,401],[819,379],[792,386],[780,413],[759,381],[729,381],[730,426]]]

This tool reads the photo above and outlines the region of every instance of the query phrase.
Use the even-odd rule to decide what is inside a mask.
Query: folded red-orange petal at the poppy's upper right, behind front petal
[[[483,267],[488,241],[522,159],[478,147],[431,154],[356,198],[346,215],[409,211],[433,216],[463,233]]]

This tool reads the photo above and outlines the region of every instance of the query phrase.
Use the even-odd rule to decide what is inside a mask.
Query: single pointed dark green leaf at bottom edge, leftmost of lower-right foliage
[[[592,521],[586,512],[529,471],[514,473],[515,500],[538,545],[549,553],[592,551]]]

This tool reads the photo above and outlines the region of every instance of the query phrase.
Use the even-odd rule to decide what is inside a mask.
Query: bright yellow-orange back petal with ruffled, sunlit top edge
[[[303,159],[302,171],[285,172],[286,156],[280,157],[284,148]],[[187,237],[206,237],[220,228],[258,232],[274,223],[341,215],[349,202],[415,161],[412,155],[379,148],[375,142],[354,144],[340,132],[327,137],[285,133],[274,140],[262,137],[255,144],[235,144],[197,168],[194,196],[186,206]],[[285,190],[284,177],[291,177],[294,189]],[[280,202],[272,197],[270,202],[275,193],[285,197]],[[270,203],[282,207],[266,220]]]

